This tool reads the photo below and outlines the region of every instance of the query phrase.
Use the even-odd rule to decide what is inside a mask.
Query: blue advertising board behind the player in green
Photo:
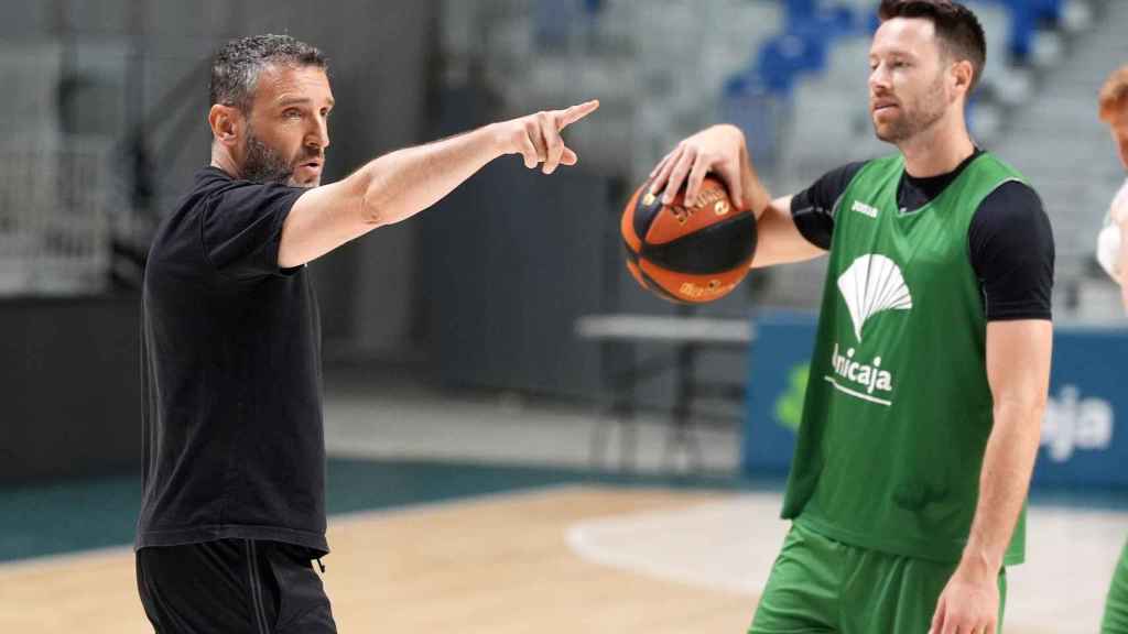
[[[814,346],[811,315],[757,319],[742,468],[783,474],[795,446]],[[1057,326],[1034,485],[1128,487],[1128,329]]]

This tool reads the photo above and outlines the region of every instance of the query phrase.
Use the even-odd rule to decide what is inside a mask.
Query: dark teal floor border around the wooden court
[[[336,458],[328,461],[326,479],[331,516],[561,484],[720,491],[782,491],[784,485],[782,477],[645,475],[481,463]],[[140,496],[138,476],[0,488],[0,562],[130,544]],[[1031,503],[1128,510],[1128,492],[1034,491]]]

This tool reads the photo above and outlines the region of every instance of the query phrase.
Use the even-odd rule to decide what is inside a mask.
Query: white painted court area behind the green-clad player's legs
[[[788,523],[779,494],[740,494],[678,510],[581,521],[580,557],[647,578],[758,596]],[[1128,512],[1033,505],[1026,563],[1007,569],[1006,623],[1016,629],[1092,634],[1128,538]]]

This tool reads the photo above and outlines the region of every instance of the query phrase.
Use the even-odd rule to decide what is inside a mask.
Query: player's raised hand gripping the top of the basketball
[[[664,190],[662,202],[673,202],[673,196],[686,186],[687,201],[697,200],[705,175],[714,173],[724,180],[733,201],[744,206],[741,191],[741,158],[744,153],[744,133],[733,125],[714,125],[682,140],[666,155],[650,173],[650,191]]]

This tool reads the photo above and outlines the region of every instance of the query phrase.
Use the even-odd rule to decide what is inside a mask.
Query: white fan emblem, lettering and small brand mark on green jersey
[[[861,203],[855,203],[855,209]],[[872,208],[871,208],[872,209]],[[862,342],[866,322],[887,310],[910,310],[913,293],[897,263],[879,255],[866,254],[855,259],[841,275],[838,276],[838,291],[846,302],[851,322],[854,325],[854,337]],[[846,354],[839,352],[835,343],[830,356],[834,376],[823,377],[838,391],[876,403],[892,405],[890,398],[893,391],[893,375],[881,369],[881,356],[874,356],[865,362],[855,359],[855,350],[849,347]]]

